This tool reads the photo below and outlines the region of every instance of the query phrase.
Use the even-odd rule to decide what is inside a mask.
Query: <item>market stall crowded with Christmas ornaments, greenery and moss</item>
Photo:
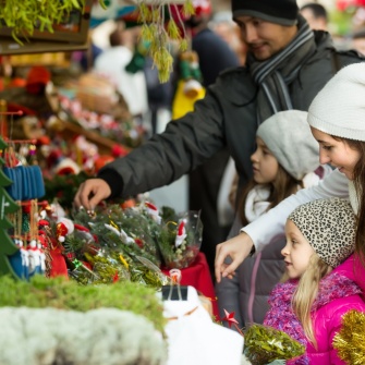
[[[110,80],[74,73],[63,53],[88,50],[94,5],[100,15],[126,4],[26,1],[24,16],[4,4],[0,364],[240,365],[301,355],[284,333],[221,326],[234,324],[234,313],[218,317],[199,211],[159,207],[148,194],[102,202],[93,212],[73,207],[85,179],[148,136]],[[166,27],[165,5],[132,7],[162,82],[172,65],[167,38],[186,47],[180,15]],[[191,14],[190,1],[181,7]]]

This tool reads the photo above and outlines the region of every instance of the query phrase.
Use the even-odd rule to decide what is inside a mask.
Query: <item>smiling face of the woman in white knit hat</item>
[[[319,143],[320,163],[329,163],[333,168],[338,168],[349,180],[353,180],[354,168],[361,157],[360,151],[351,148],[345,141],[334,139],[315,127],[311,127],[311,130]]]

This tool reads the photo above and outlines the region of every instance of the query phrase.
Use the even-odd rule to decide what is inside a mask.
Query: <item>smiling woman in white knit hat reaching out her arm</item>
[[[302,190],[217,246],[216,278],[231,277],[253,248],[259,252],[282,234],[288,215],[300,204],[330,196],[349,197],[357,212],[356,252],[365,267],[365,62],[340,70],[318,93],[308,110],[308,123],[319,143],[320,162],[336,170],[309,190]],[[224,258],[230,256],[230,265]],[[351,259],[352,261],[352,259]],[[357,259],[355,261],[358,261]],[[353,272],[353,264],[343,264]],[[360,265],[356,265],[360,267]],[[365,290],[364,275],[354,276]]]

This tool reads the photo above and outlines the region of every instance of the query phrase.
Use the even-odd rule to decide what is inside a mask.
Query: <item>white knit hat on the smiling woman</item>
[[[308,110],[311,126],[330,135],[365,142],[365,62],[341,69]]]

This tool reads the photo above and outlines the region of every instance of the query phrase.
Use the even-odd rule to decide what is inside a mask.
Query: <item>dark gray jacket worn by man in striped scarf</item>
[[[307,110],[340,68],[365,61],[355,51],[336,51],[328,33],[316,32],[315,41],[315,53],[288,85],[294,109]],[[195,104],[194,112],[170,122],[163,133],[99,171],[98,177],[111,187],[111,197],[129,197],[170,184],[223,146],[228,146],[235,161],[241,187],[252,175],[250,156],[255,149],[257,89],[248,68],[222,72],[206,97]]]

